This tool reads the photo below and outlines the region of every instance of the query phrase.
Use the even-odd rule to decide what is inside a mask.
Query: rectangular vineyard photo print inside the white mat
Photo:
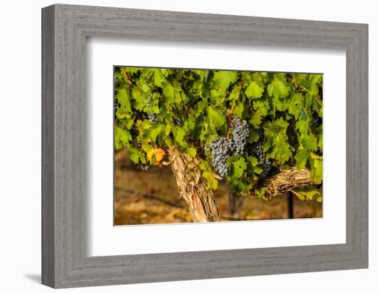
[[[113,71],[115,225],[322,218],[322,74]]]

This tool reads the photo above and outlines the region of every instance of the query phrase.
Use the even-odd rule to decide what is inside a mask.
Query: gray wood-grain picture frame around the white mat
[[[345,49],[346,244],[87,257],[87,36]],[[45,285],[368,268],[368,25],[52,5],[42,10],[42,114]]]

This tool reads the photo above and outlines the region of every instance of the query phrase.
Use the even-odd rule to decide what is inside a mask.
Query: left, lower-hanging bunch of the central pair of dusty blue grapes
[[[212,154],[212,167],[222,177],[228,174],[227,159],[232,154],[230,150],[230,143],[225,137],[215,137],[210,143],[210,148],[205,150]]]

